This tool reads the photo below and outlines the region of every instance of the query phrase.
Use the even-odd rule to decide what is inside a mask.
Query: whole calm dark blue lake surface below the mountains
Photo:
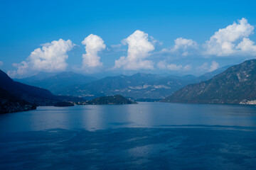
[[[256,169],[256,107],[38,107],[0,115],[0,139],[0,169]]]

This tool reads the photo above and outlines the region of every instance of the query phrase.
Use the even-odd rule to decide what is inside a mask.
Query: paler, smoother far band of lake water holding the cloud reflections
[[[172,125],[256,126],[256,107],[239,105],[139,103],[136,105],[38,107],[0,115],[0,132],[52,128],[102,130]]]

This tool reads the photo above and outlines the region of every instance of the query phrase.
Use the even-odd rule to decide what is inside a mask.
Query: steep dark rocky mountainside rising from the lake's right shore
[[[256,60],[229,67],[212,79],[189,84],[163,102],[256,103]]]

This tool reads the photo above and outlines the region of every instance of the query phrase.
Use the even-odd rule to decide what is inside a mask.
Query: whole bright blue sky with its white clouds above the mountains
[[[199,75],[255,58],[255,5],[255,1],[1,1],[0,69],[12,77],[60,71]],[[242,18],[246,22],[240,23]],[[228,26],[223,31],[231,35],[215,35]],[[95,36],[87,38],[90,34]],[[228,40],[221,39],[225,36]],[[215,39],[210,41],[211,37]],[[223,50],[217,42],[234,47]],[[55,51],[46,55],[43,45]],[[56,51],[60,47],[64,51]],[[31,55],[37,48],[41,52]]]

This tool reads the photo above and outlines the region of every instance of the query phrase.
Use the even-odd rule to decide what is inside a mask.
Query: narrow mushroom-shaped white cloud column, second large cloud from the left
[[[102,66],[98,52],[105,50],[106,45],[100,36],[90,34],[82,41],[85,45],[86,54],[82,55],[82,68],[93,68]]]

